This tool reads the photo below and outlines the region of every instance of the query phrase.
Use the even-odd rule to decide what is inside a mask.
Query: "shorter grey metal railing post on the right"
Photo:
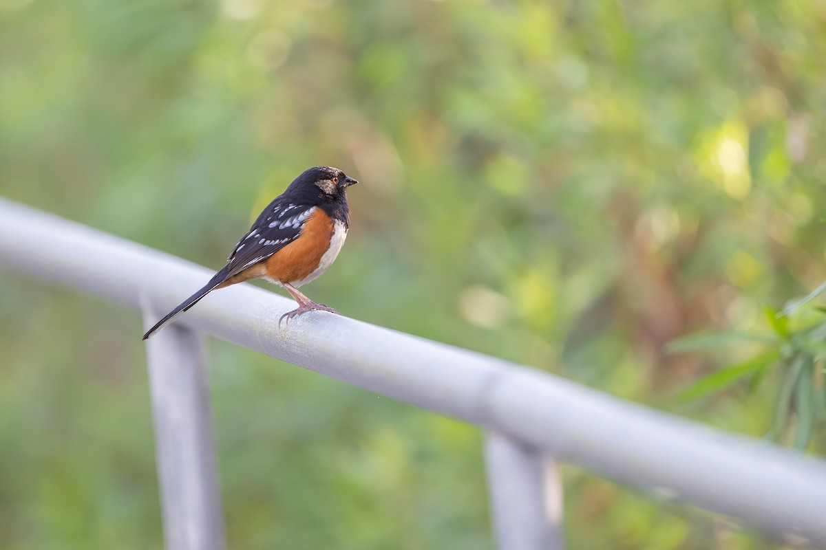
[[[485,441],[487,482],[499,550],[563,550],[563,489],[556,463],[493,431]]]

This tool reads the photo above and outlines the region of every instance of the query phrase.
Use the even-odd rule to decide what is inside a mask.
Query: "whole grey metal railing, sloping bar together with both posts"
[[[213,273],[2,199],[0,265],[140,308],[147,327]],[[211,294],[148,341],[169,550],[225,547],[202,334],[487,430],[487,476],[502,550],[562,548],[556,458],[777,537],[826,547],[822,462],[347,317],[306,315],[279,329],[278,317],[293,305],[236,285]]]

